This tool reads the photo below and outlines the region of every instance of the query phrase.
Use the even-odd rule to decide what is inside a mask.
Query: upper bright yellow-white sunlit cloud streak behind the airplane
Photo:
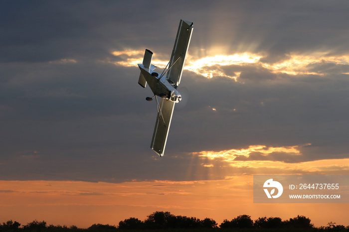
[[[142,63],[144,50],[124,50],[112,52],[120,61],[108,61],[115,65],[126,67],[137,66]],[[330,56],[328,52],[314,52],[311,54],[290,54],[287,59],[273,64],[261,62],[260,54],[235,53],[228,55],[213,54],[206,57],[194,57],[188,54],[184,70],[195,72],[206,78],[221,76],[238,80],[246,65],[263,68],[270,73],[285,73],[289,75],[324,75],[328,72],[349,74],[349,56]],[[167,60],[159,60],[154,55],[152,64],[165,68]],[[223,67],[234,66],[234,72],[227,72]]]

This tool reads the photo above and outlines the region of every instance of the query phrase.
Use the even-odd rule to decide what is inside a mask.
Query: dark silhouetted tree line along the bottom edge
[[[157,211],[141,221],[137,218],[129,218],[120,221],[118,226],[93,224],[88,229],[80,229],[76,226],[54,226],[48,225],[45,221],[34,220],[21,227],[16,221],[7,221],[0,224],[0,232],[118,232],[118,231],[143,231],[143,230],[218,230],[226,231],[235,229],[237,231],[314,231],[314,232],[349,232],[349,226],[328,223],[326,227],[315,228],[311,220],[305,216],[297,216],[283,221],[278,217],[261,217],[253,221],[251,216],[240,215],[232,220],[225,219],[218,227],[218,224],[209,218],[203,220],[195,217],[175,216],[170,212]]]

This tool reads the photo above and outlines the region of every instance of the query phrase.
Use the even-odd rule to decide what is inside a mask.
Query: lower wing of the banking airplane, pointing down
[[[167,136],[169,134],[172,114],[174,113],[174,102],[162,98],[160,110],[155,124],[151,148],[160,156],[164,155]]]

